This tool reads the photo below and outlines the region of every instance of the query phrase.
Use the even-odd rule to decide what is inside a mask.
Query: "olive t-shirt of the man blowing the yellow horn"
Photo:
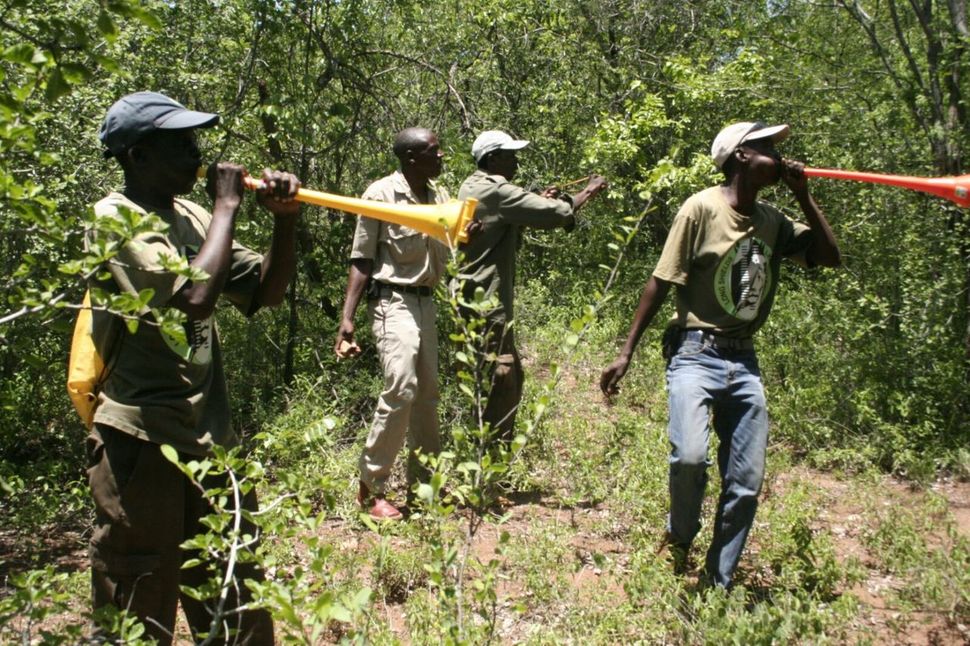
[[[163,257],[191,261],[205,240],[212,215],[188,200],[176,200],[172,210],[147,209],[120,193],[98,202],[95,215],[116,218],[119,207],[141,213],[152,210],[169,228],[141,234],[125,244],[107,263],[112,280],[100,286],[130,294],[151,288],[150,306],[164,308],[187,279],[165,269]],[[262,256],[233,243],[223,293],[247,315],[256,309],[261,264]],[[134,334],[112,314],[95,311],[92,318],[95,344],[110,369],[98,395],[96,424],[193,455],[205,455],[213,444],[237,442],[212,317],[186,321],[187,344],[162,334],[148,311],[142,313]]]

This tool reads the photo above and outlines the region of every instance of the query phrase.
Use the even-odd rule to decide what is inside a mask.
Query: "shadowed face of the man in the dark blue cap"
[[[182,195],[192,191],[202,153],[195,130],[156,130],[132,146],[140,174],[161,192]]]

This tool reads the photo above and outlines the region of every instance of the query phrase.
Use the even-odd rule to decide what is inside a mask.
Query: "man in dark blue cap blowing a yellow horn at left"
[[[180,585],[198,587],[208,579],[204,566],[182,569],[186,559],[199,555],[183,553],[180,545],[204,531],[199,520],[210,508],[197,486],[160,451],[160,445],[171,445],[181,460],[189,461],[204,457],[214,445],[238,443],[213,320],[216,301],[225,295],[243,314],[252,315],[282,301],[295,269],[299,205],[293,197],[299,181],[293,175],[264,172],[258,199],[274,215],[273,241],[264,256],[233,240],[243,199],[242,167],[220,163],[208,169],[211,214],[177,197],[196,182],[202,157],[195,129],[218,121],[215,114],[188,110],[167,96],[138,92],[112,105],[101,126],[105,156],[121,164],[125,188],[98,202],[96,216],[108,220],[124,217],[127,210],[154,213],[168,228],[140,234],[122,246],[104,267],[110,278],[94,284],[133,296],[151,289],[150,307],[176,308],[188,321],[185,339],[178,339],[161,332],[148,307],[134,334],[112,314],[94,313],[92,336],[110,372],[87,439],[97,513],[90,549],[92,594],[96,609],[114,605],[127,610],[162,644],[172,641],[181,600],[197,641],[213,626],[222,630],[225,625],[237,643],[270,645],[269,613],[236,610],[249,596],[242,580],[262,577],[251,564],[237,563],[217,623],[211,611],[217,600],[200,601],[180,592]],[[168,260],[177,257],[208,279],[192,281],[166,269]],[[254,492],[243,505],[257,509]],[[227,639],[220,634],[216,643]]]

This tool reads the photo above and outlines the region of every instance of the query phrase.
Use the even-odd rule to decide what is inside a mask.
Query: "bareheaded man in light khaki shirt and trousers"
[[[390,204],[440,204],[447,192],[433,178],[441,174],[444,154],[438,137],[408,128],[394,140],[401,170],[371,184],[363,198]],[[370,434],[360,456],[361,506],[374,518],[399,519],[384,488],[394,459],[408,441],[408,483],[419,474],[414,451],[436,454],[438,435],[438,332],[435,285],[444,273],[448,248],[401,224],[368,217],[357,220],[343,318],[334,351],[338,357],[360,352],[354,342],[354,314],[365,288],[381,366],[384,390],[377,401]],[[368,288],[369,283],[369,288]]]

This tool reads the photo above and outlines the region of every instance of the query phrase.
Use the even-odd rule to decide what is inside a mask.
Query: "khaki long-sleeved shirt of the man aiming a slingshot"
[[[458,191],[458,199],[478,200],[475,219],[482,230],[459,249],[466,264],[458,273],[465,281],[465,295],[476,287],[485,289],[486,298],[497,295],[499,307],[487,314],[492,321],[512,321],[515,290],[515,251],[519,227],[554,229],[572,222],[573,207],[559,199],[548,199],[509,183],[501,175],[476,170]]]

